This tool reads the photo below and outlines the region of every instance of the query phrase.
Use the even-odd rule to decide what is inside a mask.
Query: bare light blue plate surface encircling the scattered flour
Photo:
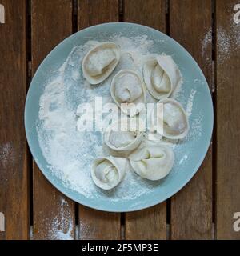
[[[154,52],[170,54],[178,64],[184,79],[182,92],[178,100],[182,102],[185,108],[187,104],[186,99],[190,97],[190,94],[193,96],[194,93],[194,102],[190,115],[190,138],[176,147],[174,170],[161,182],[155,183],[150,193],[142,194],[139,198],[118,200],[116,202],[109,200],[107,197],[88,198],[86,195],[80,194],[75,190],[70,190],[69,187],[64,186],[62,180],[54,175],[48,168],[48,164],[42,155],[42,150],[38,143],[36,130],[39,98],[43,93],[43,85],[48,78],[48,74],[50,75],[56,66],[59,67],[62,65],[74,46],[81,46],[89,40],[101,42],[114,34],[122,34],[126,37],[147,35],[149,39],[155,42],[153,48]],[[56,46],[54,50],[48,54],[34,75],[26,97],[25,108],[27,141],[31,153],[34,156],[34,160],[37,162],[46,178],[58,188],[58,190],[74,201],[94,209],[113,212],[141,210],[146,207],[154,206],[170,198],[177,193],[178,190],[181,190],[197,172],[206,155],[210,145],[213,119],[213,104],[210,90],[202,74],[202,70],[200,70],[194,58],[192,58],[178,42],[175,42],[172,38],[166,36],[166,34],[162,34],[158,30],[147,26],[123,22],[91,26],[86,30],[73,34]]]

